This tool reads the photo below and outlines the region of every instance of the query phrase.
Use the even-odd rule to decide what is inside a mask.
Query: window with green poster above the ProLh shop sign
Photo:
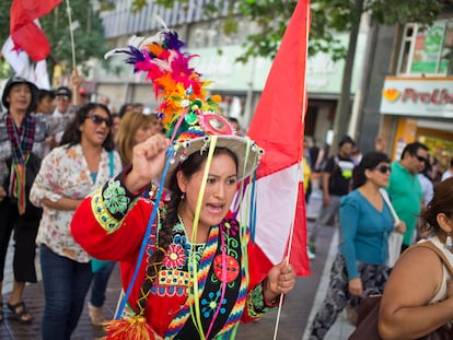
[[[430,27],[406,24],[398,60],[399,75],[453,74],[453,20]]]

